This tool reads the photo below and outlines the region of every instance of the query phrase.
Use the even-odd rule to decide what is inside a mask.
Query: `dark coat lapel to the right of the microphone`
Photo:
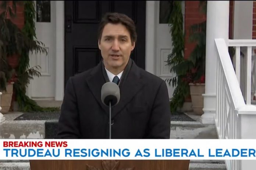
[[[141,75],[138,71],[138,66],[132,62],[131,70],[129,71],[126,79],[120,86],[120,101],[113,107],[111,117],[115,117],[129,101],[137,94],[139,90],[143,88],[145,82],[143,82]]]

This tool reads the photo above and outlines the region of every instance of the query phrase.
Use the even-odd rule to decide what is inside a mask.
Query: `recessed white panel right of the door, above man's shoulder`
[[[171,53],[171,49],[160,49],[160,77],[173,77],[170,73],[170,66],[167,65],[168,55]]]

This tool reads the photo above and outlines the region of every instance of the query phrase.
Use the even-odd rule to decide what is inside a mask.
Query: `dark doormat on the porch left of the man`
[[[53,120],[60,117],[60,111],[58,112],[25,112],[14,121],[44,121]]]

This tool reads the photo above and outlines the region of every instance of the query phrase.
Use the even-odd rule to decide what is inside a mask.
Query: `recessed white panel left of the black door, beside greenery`
[[[47,55],[46,53],[38,53],[36,55],[36,65],[41,67],[39,69],[41,76],[50,76],[50,47],[45,47],[45,49]]]

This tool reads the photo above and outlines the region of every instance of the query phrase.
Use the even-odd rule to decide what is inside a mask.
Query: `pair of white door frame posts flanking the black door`
[[[64,1],[56,1],[56,80],[55,100],[64,97],[64,47],[65,12]],[[146,1],[146,47],[145,70],[155,74],[155,1]]]

